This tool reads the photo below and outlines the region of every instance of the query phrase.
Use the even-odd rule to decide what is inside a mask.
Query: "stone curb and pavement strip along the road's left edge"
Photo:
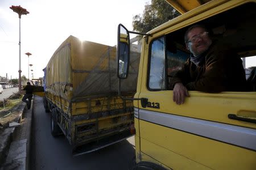
[[[2,139],[2,137],[0,139],[1,159],[6,157],[5,163],[0,164],[0,170],[30,169],[31,120],[34,100],[29,110],[27,110],[26,104],[22,103],[20,105],[16,113],[19,114],[17,122],[20,125],[14,128],[6,128],[5,139]]]

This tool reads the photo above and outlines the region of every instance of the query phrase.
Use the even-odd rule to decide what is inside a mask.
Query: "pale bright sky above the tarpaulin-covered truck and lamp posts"
[[[28,78],[28,57],[34,78],[43,77],[52,54],[70,35],[114,46],[117,26],[132,31],[133,16],[143,14],[151,0],[0,0],[0,76],[19,77],[19,18],[10,6],[26,8],[22,15],[21,70]],[[31,79],[31,71],[30,71]]]

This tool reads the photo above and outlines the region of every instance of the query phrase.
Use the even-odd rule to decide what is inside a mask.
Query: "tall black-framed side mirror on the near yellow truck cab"
[[[117,34],[117,76],[126,79],[130,64],[130,35],[129,31],[122,25],[118,25]]]

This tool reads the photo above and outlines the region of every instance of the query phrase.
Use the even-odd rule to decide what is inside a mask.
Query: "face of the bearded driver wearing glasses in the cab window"
[[[196,27],[188,32],[187,49],[194,55],[198,56],[204,53],[212,44],[212,40],[205,32],[204,28]]]

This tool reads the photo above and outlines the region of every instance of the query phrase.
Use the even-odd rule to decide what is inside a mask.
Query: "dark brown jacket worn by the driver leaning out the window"
[[[188,90],[203,92],[245,91],[246,78],[242,60],[236,53],[212,45],[202,54],[198,66],[188,58],[183,68],[171,79],[171,88],[182,82]]]

